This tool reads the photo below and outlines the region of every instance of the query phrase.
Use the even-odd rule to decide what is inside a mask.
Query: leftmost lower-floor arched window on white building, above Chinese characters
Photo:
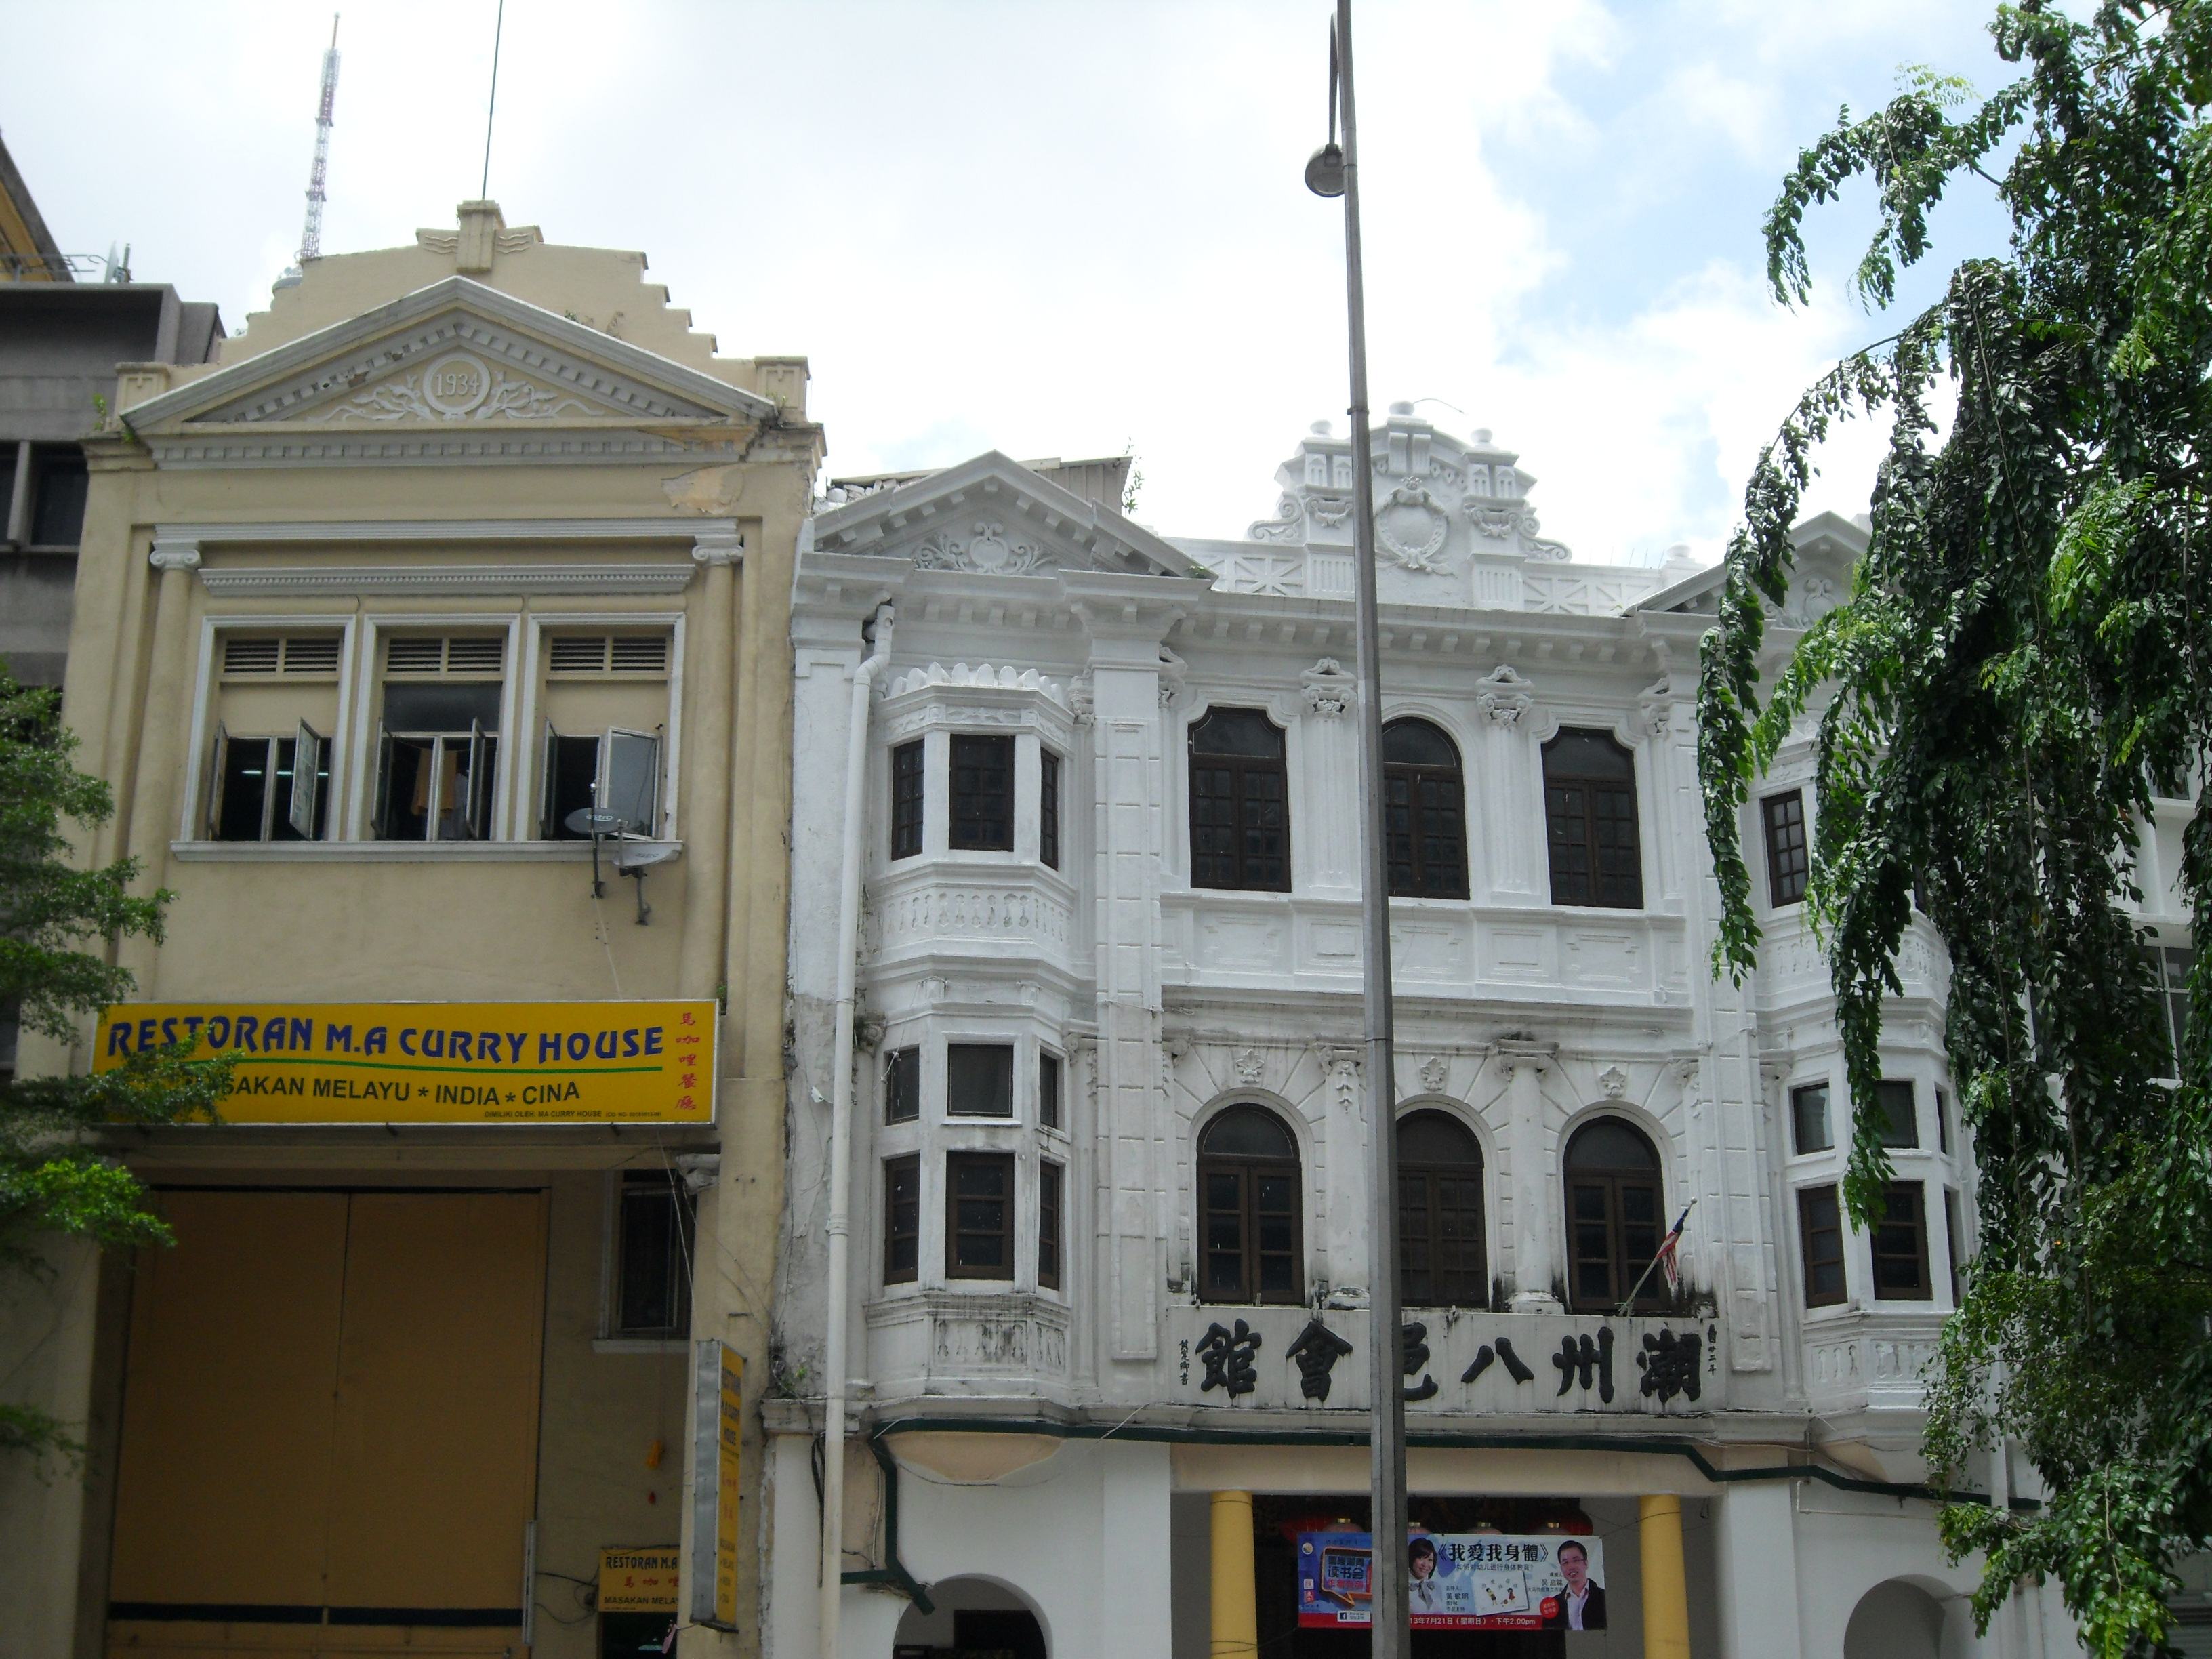
[[[1298,1144],[1259,1106],[1199,1139],[1199,1301],[1303,1303]]]

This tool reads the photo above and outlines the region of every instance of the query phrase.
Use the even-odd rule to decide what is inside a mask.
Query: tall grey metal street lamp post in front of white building
[[[1343,148],[1336,126],[1343,117]],[[1376,480],[1367,436],[1367,294],[1360,272],[1360,146],[1352,104],[1352,0],[1336,0],[1329,35],[1329,144],[1305,164],[1314,195],[1345,199],[1345,307],[1352,336],[1352,575],[1360,639],[1360,975],[1367,1015],[1367,1305],[1369,1579],[1374,1659],[1405,1659],[1405,1352],[1398,1336],[1398,1079],[1391,1060],[1389,849],[1383,821],[1383,648],[1376,630]]]

